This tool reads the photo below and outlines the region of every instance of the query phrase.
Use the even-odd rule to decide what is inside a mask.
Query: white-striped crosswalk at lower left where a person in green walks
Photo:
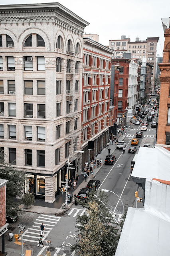
[[[55,225],[58,223],[61,217],[57,216],[51,216],[51,215],[46,215],[46,214],[41,214],[36,218],[34,224],[32,225],[31,228],[28,228],[24,233],[23,233],[23,240],[27,242],[33,242],[38,244],[38,239],[40,238],[41,230],[40,226],[43,222],[44,224],[44,230],[45,234],[43,236],[43,241],[46,239],[48,236],[49,232],[55,227]],[[20,238],[21,239],[21,238]]]

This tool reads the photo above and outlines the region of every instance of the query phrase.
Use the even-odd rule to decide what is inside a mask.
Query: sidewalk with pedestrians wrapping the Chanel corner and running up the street
[[[129,125],[128,125],[129,126]],[[133,124],[131,125],[131,128],[133,127]],[[129,132],[129,128],[127,130],[127,133]],[[120,134],[118,134],[116,136],[116,138],[118,140],[124,140],[125,137],[121,137]],[[116,149],[116,146],[115,143],[113,142],[113,145],[112,144],[109,144],[109,148],[111,149],[110,151],[110,154],[113,154],[113,152],[115,151]],[[99,170],[101,169],[101,167],[105,164],[105,158],[106,156],[108,155],[108,149],[107,148],[103,148],[101,154],[99,154],[97,157],[95,157],[95,159],[99,159],[100,158],[102,159],[102,165],[99,166],[99,168],[96,168],[93,169],[93,177],[95,179],[95,175],[97,174],[97,172],[99,172]],[[76,186],[76,189],[73,190],[73,186],[71,188],[71,194],[78,194],[79,190],[81,188],[85,188],[87,186],[87,182],[88,180],[91,180],[91,174],[89,176],[89,179],[87,180],[87,182],[85,182],[85,179],[83,178],[84,176],[84,173],[82,173],[81,175],[79,175],[79,180],[78,180],[78,183],[77,183],[77,186]],[[68,208],[63,210],[62,209],[62,204],[65,202],[65,193],[62,195],[60,194],[59,196],[56,197],[56,200],[55,202],[53,202],[53,204],[50,204],[50,203],[45,203],[44,201],[42,200],[36,200],[36,203],[35,205],[32,205],[29,209],[25,209],[24,208],[24,205],[21,204],[19,207],[20,207],[20,210],[22,211],[26,211],[26,212],[35,212],[35,213],[40,213],[40,214],[62,214],[64,212],[66,212],[72,205],[73,205],[73,202],[71,204],[68,205]]]

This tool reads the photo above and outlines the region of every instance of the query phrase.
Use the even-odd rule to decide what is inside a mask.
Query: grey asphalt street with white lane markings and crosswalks
[[[151,109],[151,108],[150,108]],[[156,112],[157,114],[157,112]],[[153,121],[157,121],[158,117],[153,118]],[[147,119],[147,115],[144,121]],[[136,131],[140,131],[141,124],[139,126],[133,126],[128,130],[124,137],[120,137],[119,140],[124,139],[127,143],[125,154],[122,150],[115,149],[114,155],[116,156],[116,162],[113,166],[103,165],[99,172],[95,175],[95,180],[100,180],[100,189],[111,190],[112,192],[106,192],[109,197],[108,207],[113,212],[115,222],[120,223],[121,217],[123,215],[123,205],[125,210],[134,206],[134,192],[138,190],[138,185],[136,185],[130,178],[130,166],[131,161],[134,158],[134,154],[128,154],[128,147],[131,146],[132,138],[135,138]],[[156,128],[151,128],[151,122],[147,127],[147,131],[143,132],[142,138],[139,138],[139,144],[137,148],[142,146],[144,143],[152,145],[156,142]],[[107,150],[105,148],[104,150]],[[137,152],[135,154],[138,153]],[[103,159],[104,160],[104,159]],[[147,166],[144,166],[147,168]],[[142,197],[143,191],[140,188],[139,196]],[[119,200],[119,197],[121,200]],[[143,207],[142,202],[138,202],[138,208]],[[51,256],[73,256],[71,247],[76,242],[78,230],[76,226],[77,215],[85,214],[86,209],[81,206],[73,205],[65,214],[61,216],[55,216],[52,214],[33,214],[33,213],[23,213],[18,222],[10,224],[14,226],[15,233],[18,232],[18,224],[26,226],[23,232],[23,240],[27,244],[30,244],[34,250],[35,256],[45,255],[46,250],[51,252]],[[22,223],[21,223],[22,222]],[[44,247],[38,247],[38,238],[40,236],[40,225],[42,222],[45,225],[45,236],[43,236]],[[79,224],[77,225],[77,227]],[[51,241],[51,244],[46,244],[46,240]],[[14,242],[14,241],[13,241]]]

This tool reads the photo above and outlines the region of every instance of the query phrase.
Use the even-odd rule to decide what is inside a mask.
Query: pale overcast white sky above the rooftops
[[[146,40],[159,36],[157,54],[162,56],[164,31],[161,18],[170,17],[170,0],[0,0],[0,4],[31,4],[59,2],[90,23],[87,34],[98,34],[99,43],[109,45],[109,40],[121,35]]]

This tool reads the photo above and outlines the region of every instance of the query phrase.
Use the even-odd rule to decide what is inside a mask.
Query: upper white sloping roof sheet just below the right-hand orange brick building
[[[140,147],[132,176],[170,181],[170,151],[163,147]]]

